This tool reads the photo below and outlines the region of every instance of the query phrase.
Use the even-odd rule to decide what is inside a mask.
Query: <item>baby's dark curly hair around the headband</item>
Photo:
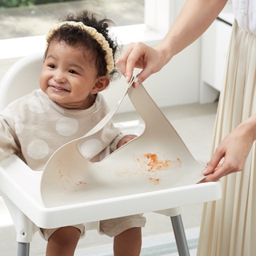
[[[115,62],[119,47],[117,39],[110,35],[110,26],[114,26],[114,22],[110,19],[99,18],[98,14],[93,14],[84,10],[77,15],[69,14],[60,22],[83,22],[86,26],[93,27],[98,33],[102,34],[109,43],[110,48],[113,51],[113,59]],[[105,60],[106,51],[102,49],[102,46],[96,39],[90,36],[90,34],[87,34],[81,27],[68,25],[61,26],[50,38],[50,41],[65,42],[68,46],[81,47],[82,50],[86,50],[86,52],[89,51],[91,54],[91,61],[94,62],[94,65],[98,69],[98,76],[107,74]],[[46,54],[48,47],[46,49]],[[112,81],[120,77],[118,69],[115,66],[114,70],[108,75]]]

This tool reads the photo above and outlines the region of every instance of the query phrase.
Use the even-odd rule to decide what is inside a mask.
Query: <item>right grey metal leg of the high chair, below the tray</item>
[[[190,256],[190,250],[187,245],[186,234],[182,223],[182,215],[178,214],[176,216],[171,216],[170,220],[173,225],[178,254],[180,256]]]

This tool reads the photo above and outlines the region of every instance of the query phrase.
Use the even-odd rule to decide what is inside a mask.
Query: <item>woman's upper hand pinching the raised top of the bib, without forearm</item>
[[[137,76],[138,81],[134,83],[134,87],[138,87],[150,74],[162,69],[162,66],[166,64],[164,59],[161,50],[147,46],[142,42],[133,42],[120,55],[116,61],[116,66],[126,77],[127,82],[130,82],[135,67],[142,69]]]

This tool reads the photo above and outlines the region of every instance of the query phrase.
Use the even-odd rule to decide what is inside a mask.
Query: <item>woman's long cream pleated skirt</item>
[[[240,122],[256,114],[256,35],[234,22],[214,127],[212,153]],[[256,255],[255,142],[242,172],[222,178],[222,199],[204,205],[198,256]]]

